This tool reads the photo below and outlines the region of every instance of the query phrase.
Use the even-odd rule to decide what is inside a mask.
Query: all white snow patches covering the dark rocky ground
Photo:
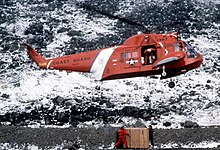
[[[83,2],[83,0],[81,1]],[[47,53],[50,57],[64,55],[65,51],[61,49],[66,44],[70,44],[74,38],[94,42],[95,39],[100,37],[108,39],[109,35],[121,36],[118,34],[119,31],[115,30],[116,25],[119,23],[118,20],[97,14],[91,17],[91,14],[88,14],[86,10],[76,7],[74,2],[71,4],[68,1],[62,8],[42,12],[41,7],[49,8],[49,5],[43,1],[40,4],[28,4],[27,1],[18,0],[13,6],[10,6],[15,10],[14,13],[17,17],[14,20],[1,23],[0,27],[10,34],[10,39],[17,37],[15,42],[18,44],[19,41],[33,38],[32,34],[25,34],[25,31],[32,24],[43,24],[43,35],[38,36],[45,36],[46,38],[46,31],[52,33],[53,38],[46,41],[46,49],[42,49],[42,53]],[[132,15],[139,13],[138,10],[142,2],[148,5],[165,7],[169,5],[169,2],[174,2],[174,0],[167,0],[166,4],[164,0],[120,1],[117,6],[118,11],[114,13],[132,18]],[[195,7],[200,10],[203,9],[203,6],[208,7],[209,5],[220,4],[220,0],[198,0],[193,3],[198,3]],[[217,7],[215,7],[215,10],[218,12]],[[196,12],[190,12],[189,15],[192,19],[197,17]],[[204,17],[209,15],[207,14]],[[51,20],[57,19],[58,22],[51,22],[47,18],[52,18]],[[191,24],[191,21],[188,20],[188,23]],[[50,28],[50,24],[53,24],[52,28]],[[148,121],[141,118],[121,117],[115,123],[110,124],[112,127],[134,126],[138,121],[146,127],[153,123],[156,124],[154,128],[166,129],[182,128],[180,124],[185,121],[196,122],[199,126],[220,126],[220,105],[218,104],[220,97],[220,72],[214,68],[215,64],[219,65],[220,58],[219,28],[219,22],[212,22],[212,26],[202,29],[203,34],[197,35],[200,31],[193,29],[191,32],[195,34],[191,34],[184,39],[202,53],[204,61],[200,68],[172,78],[176,82],[176,86],[173,89],[167,86],[170,79],[158,80],[150,77],[138,77],[99,82],[95,81],[94,76],[90,74],[39,70],[35,64],[30,64],[30,59],[25,51],[20,51],[20,49],[13,52],[5,50],[5,45],[13,43],[13,39],[9,43],[3,43],[4,39],[0,38],[0,114],[28,112],[35,107],[40,108],[41,106],[52,108],[54,104],[51,99],[57,96],[67,99],[79,98],[83,99],[83,103],[97,106],[99,104],[91,102],[91,99],[102,95],[115,105],[114,108],[102,105],[102,109],[114,110],[122,109],[125,106],[135,106],[139,109],[151,108],[158,110],[165,107],[169,110],[166,114],[161,114],[160,117],[155,116],[155,118],[151,118]],[[64,31],[58,32],[60,29],[64,29]],[[80,36],[70,36],[68,34],[69,30],[76,31]],[[115,41],[112,42],[115,43]],[[71,48],[75,49],[75,47]],[[20,62],[19,65],[10,68],[10,65],[13,65],[15,61]],[[100,86],[100,90],[96,90],[97,86]],[[2,96],[3,94],[9,96],[9,98],[5,98]],[[146,97],[149,98],[149,102],[145,101]],[[73,105],[76,104],[74,100],[71,102]],[[59,111],[64,110],[61,107],[58,109]],[[170,122],[171,126],[165,127],[163,125],[165,122]],[[4,124],[10,125],[9,122]],[[58,127],[44,124],[45,122],[42,120],[41,123],[31,122],[27,127]],[[67,123],[59,126],[59,128],[68,128],[69,126],[70,124]],[[99,120],[92,120],[81,123],[77,127],[84,128],[88,126],[100,128],[104,126],[104,123]],[[113,145],[112,143],[109,148],[113,148]],[[219,145],[220,141],[210,140],[188,144],[166,143],[159,148],[216,148]],[[62,149],[62,146],[57,145],[52,148],[48,147],[48,149]],[[31,144],[11,145],[10,143],[0,143],[0,147],[2,149],[40,149],[38,146]],[[80,150],[83,150],[83,148],[80,148]]]

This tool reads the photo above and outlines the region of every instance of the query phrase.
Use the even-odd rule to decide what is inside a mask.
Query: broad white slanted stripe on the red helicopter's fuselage
[[[116,49],[117,47],[111,47],[111,48],[107,48],[107,49],[103,49],[98,56],[96,57],[90,72],[94,74],[96,80],[101,80],[102,79],[102,75],[105,69],[105,66],[109,60],[109,58],[111,57],[113,51]]]

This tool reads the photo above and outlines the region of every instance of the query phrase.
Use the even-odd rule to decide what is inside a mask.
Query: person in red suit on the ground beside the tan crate
[[[119,145],[123,145],[123,148],[127,148],[128,147],[128,145],[127,145],[127,141],[126,141],[126,139],[125,139],[125,135],[128,135],[128,136],[130,136],[126,131],[125,131],[125,129],[124,129],[124,127],[122,126],[119,130],[118,130],[118,132],[117,132],[117,142],[115,143],[115,147],[114,148],[119,148],[118,146]]]

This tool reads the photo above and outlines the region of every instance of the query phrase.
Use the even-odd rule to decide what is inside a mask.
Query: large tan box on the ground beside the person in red
[[[149,130],[148,128],[125,128],[126,132],[130,134],[125,136],[128,148],[149,148]]]

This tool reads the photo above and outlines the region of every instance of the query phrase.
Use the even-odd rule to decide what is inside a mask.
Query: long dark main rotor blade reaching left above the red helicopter
[[[107,13],[107,12],[104,12],[104,11],[101,11],[101,10],[98,10],[96,9],[95,7],[91,6],[91,5],[88,5],[88,4],[85,4],[85,3],[77,3],[76,4],[77,6],[81,7],[81,8],[84,8],[86,10],[90,10],[90,11],[95,11],[97,13],[100,13],[102,15],[105,15],[107,17],[110,17],[110,18],[114,18],[114,19],[118,19],[122,22],[125,22],[125,23],[128,23],[130,25],[136,25],[136,26],[140,26],[142,27],[145,31],[145,33],[150,33],[150,31],[147,29],[147,27],[141,23],[138,23],[138,22],[134,22],[134,21],[131,21],[131,20],[128,20],[126,18],[122,18],[122,17],[119,17],[119,16],[116,16],[116,15],[112,15],[110,13]]]

